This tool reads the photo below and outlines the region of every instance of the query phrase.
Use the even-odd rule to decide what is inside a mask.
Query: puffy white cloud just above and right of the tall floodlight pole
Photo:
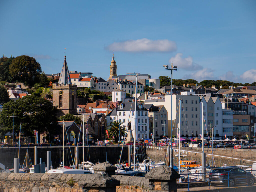
[[[184,69],[187,71],[202,70],[203,66],[193,62],[193,58],[188,56],[187,58],[182,58],[182,53],[177,53],[175,57],[169,59],[169,63],[173,62],[174,66],[178,69]]]

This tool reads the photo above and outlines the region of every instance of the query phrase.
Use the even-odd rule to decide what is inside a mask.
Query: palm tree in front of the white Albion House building
[[[107,127],[107,130],[109,132],[109,138],[113,138],[115,140],[115,143],[119,140],[119,133],[120,136],[125,135],[125,126],[122,126],[123,122],[121,121],[113,121],[110,122],[110,126]]]

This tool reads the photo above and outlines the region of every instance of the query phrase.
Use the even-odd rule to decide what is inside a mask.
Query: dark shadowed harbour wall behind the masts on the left
[[[28,154],[31,160],[32,165],[34,165],[34,147],[22,147],[20,148],[20,165],[23,164],[26,152],[28,149]],[[89,146],[84,148],[84,161],[90,161],[94,164],[97,162],[106,162],[109,161],[111,164],[118,163],[120,153],[122,150],[122,146],[116,146],[116,145],[109,145],[109,146]],[[38,147],[37,148],[37,163],[39,163],[39,158],[42,158],[42,162],[45,162],[46,164],[46,153],[47,151],[51,151],[51,165],[56,168],[59,166],[60,162],[62,161],[63,157],[63,148],[62,147]],[[137,153],[139,154],[138,160],[142,162],[145,157],[145,147],[144,146],[138,146]],[[5,165],[5,168],[13,168],[13,161],[14,158],[18,158],[18,148],[2,148],[0,149],[0,163]],[[74,159],[75,156],[75,147],[70,146],[64,148],[64,154],[65,154],[65,165],[73,165],[72,159]],[[72,154],[72,158],[71,158]],[[83,160],[83,149],[82,146],[79,146],[79,163],[81,163]],[[128,160],[128,146],[125,145],[123,148],[121,163],[123,161]],[[26,163],[26,162],[25,162]]]

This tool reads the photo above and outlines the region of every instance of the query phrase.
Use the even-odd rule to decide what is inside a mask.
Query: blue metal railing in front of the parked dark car
[[[229,166],[229,167],[234,167],[234,168],[242,168],[243,166]],[[248,166],[247,166],[248,167]],[[208,169],[211,169],[211,171],[213,171],[214,169],[216,169],[216,168],[225,168],[225,167],[206,167],[206,168],[208,168]],[[191,170],[191,169],[202,169],[201,167],[195,167],[195,168],[183,168],[183,169],[180,169],[180,170]],[[246,182],[240,182],[239,184],[242,184],[242,183],[244,183],[244,184],[246,184],[246,186],[248,186],[248,179],[251,179],[251,178],[253,178],[254,179],[254,181],[253,181],[253,184],[254,184],[254,182],[255,182],[255,180],[256,180],[256,177],[251,173],[252,171],[256,171],[256,170],[243,170],[244,172],[246,172],[246,177],[244,177],[244,178],[230,178],[230,173],[232,172],[232,171],[223,171],[223,172],[218,172],[218,173],[223,173],[223,175],[224,174],[227,174],[228,175],[228,178],[226,178],[226,179],[224,179],[224,178],[220,178],[220,179],[218,179],[218,178],[215,178],[215,179],[210,179],[210,175],[212,175],[213,173],[216,173],[216,172],[208,172],[208,173],[185,173],[185,174],[183,174],[183,173],[181,173],[180,174],[180,179],[177,179],[177,180],[179,180],[179,181],[181,181],[181,182],[177,182],[177,184],[184,184],[184,183],[187,183],[188,184],[188,191],[189,191],[189,184],[192,184],[192,183],[198,183],[198,182],[208,182],[208,189],[210,189],[210,183],[211,182],[216,182],[216,181],[220,181],[220,184],[227,184],[227,186],[228,187],[233,187],[233,186],[230,186],[230,180],[232,179],[232,180],[234,180],[234,184],[236,183],[235,181],[236,180],[241,180],[241,179],[246,179]],[[177,172],[178,172],[178,170],[177,170]],[[252,174],[252,176],[249,176],[248,177],[248,172],[250,172],[251,174]],[[232,173],[234,173],[234,172],[232,172]],[[195,177],[197,177],[198,178],[198,180],[196,180],[196,181],[191,181],[191,179],[195,179]],[[200,179],[200,177],[201,177],[201,179]],[[205,177],[205,181],[204,180],[202,180],[202,178],[203,177]],[[225,182],[225,181],[227,181],[227,182]],[[221,183],[222,182],[222,183]],[[250,184],[249,184],[250,185]]]

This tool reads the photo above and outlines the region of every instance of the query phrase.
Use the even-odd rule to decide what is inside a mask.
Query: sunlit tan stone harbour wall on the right
[[[196,160],[198,163],[201,162],[201,153],[202,148],[185,148],[182,147],[181,157],[182,160]],[[159,160],[166,162],[166,152],[167,148],[162,147],[146,147],[146,153],[150,159],[158,162]],[[211,165],[212,155],[211,149],[205,148],[204,152],[206,153],[206,164]],[[177,163],[178,150],[174,148],[174,163]],[[227,166],[236,166],[236,165],[252,165],[256,162],[256,150],[255,149],[224,149],[224,148],[214,148],[214,161],[217,167],[227,164]],[[215,163],[214,163],[215,162]]]

